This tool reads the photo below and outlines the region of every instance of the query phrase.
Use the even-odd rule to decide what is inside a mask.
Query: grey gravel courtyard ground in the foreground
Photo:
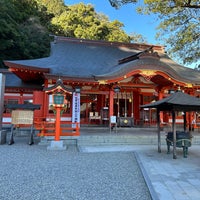
[[[48,151],[15,141],[0,145],[1,200],[151,199],[133,152]]]

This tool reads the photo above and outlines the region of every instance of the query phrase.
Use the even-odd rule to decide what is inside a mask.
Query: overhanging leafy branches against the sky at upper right
[[[113,7],[137,0],[109,0]],[[198,61],[200,57],[200,3],[198,0],[145,0],[139,13],[158,14],[161,23],[157,38],[167,44],[168,53],[183,63]]]

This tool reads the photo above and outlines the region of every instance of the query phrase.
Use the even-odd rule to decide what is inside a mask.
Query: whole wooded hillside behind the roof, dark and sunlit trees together
[[[143,42],[127,35],[123,23],[110,21],[91,4],[67,6],[63,0],[0,0],[0,66],[2,60],[49,55],[49,35],[92,40]]]

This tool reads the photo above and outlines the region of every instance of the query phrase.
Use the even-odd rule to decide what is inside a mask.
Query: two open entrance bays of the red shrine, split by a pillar
[[[109,94],[81,94],[80,101],[81,124],[109,125],[112,109],[117,126],[134,126],[134,99],[131,92],[114,92],[111,97]],[[110,101],[113,102],[111,106]]]

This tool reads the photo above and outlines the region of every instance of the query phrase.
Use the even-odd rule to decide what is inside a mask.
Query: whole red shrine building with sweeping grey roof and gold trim
[[[200,72],[174,62],[163,46],[66,38],[56,36],[49,57],[32,60],[4,61],[8,69],[4,102],[7,104],[40,104],[34,120],[55,118],[52,95],[45,88],[58,80],[69,91],[65,97],[61,121],[73,118],[73,94],[80,96],[80,125],[109,125],[116,116],[120,127],[156,124],[155,109],[140,106],[160,100],[171,92],[182,90],[200,96]],[[177,113],[177,123],[182,114]],[[170,123],[167,112],[162,123]],[[198,120],[192,113],[189,120]],[[9,109],[3,123],[11,122]]]

